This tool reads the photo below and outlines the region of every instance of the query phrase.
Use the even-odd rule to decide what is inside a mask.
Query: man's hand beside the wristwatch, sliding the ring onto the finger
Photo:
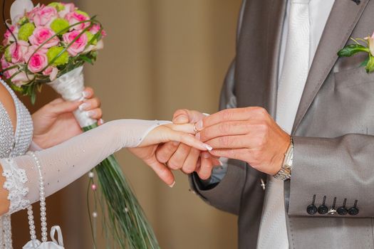
[[[290,136],[261,107],[227,109],[196,124],[197,137],[213,147],[211,154],[246,161],[274,175],[281,169]]]

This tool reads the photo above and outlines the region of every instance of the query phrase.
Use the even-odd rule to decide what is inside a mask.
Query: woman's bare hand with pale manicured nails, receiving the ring
[[[177,142],[187,144],[190,147],[206,151],[212,149],[194,138],[193,124],[165,124],[152,130],[142,143],[137,148],[129,149],[130,152],[135,154],[149,165],[157,174],[157,176],[170,187],[174,186],[175,178],[172,171],[160,163],[155,156],[156,149],[159,144],[165,142]]]

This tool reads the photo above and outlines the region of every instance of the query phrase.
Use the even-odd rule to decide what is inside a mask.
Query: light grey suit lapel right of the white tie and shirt
[[[335,1],[321,41],[318,44],[316,55],[313,58],[300,105],[298,105],[298,112],[292,129],[293,133],[336,63],[339,49],[347,43],[350,33],[352,33],[368,1],[362,0],[360,5],[349,0]]]

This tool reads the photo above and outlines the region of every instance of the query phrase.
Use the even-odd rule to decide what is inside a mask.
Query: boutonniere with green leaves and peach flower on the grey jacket
[[[367,73],[374,72],[374,33],[366,38],[350,38],[355,43],[345,46],[338,52],[339,57],[350,57],[356,53],[368,53],[368,57],[361,63]]]

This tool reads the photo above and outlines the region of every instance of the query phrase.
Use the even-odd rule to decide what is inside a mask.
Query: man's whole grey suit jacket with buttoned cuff
[[[237,56],[225,80],[221,109],[265,107],[275,115],[281,28],[286,0],[247,0],[241,9]],[[284,184],[290,248],[374,248],[374,73],[359,67],[363,56],[338,58],[349,38],[374,31],[374,1],[336,0],[311,65],[298,107],[294,169]],[[373,108],[373,109],[372,109]],[[217,208],[239,216],[239,248],[256,248],[264,201],[262,174],[230,161],[227,175],[194,191]],[[326,196],[331,208],[354,206],[356,215],[308,214]]]

